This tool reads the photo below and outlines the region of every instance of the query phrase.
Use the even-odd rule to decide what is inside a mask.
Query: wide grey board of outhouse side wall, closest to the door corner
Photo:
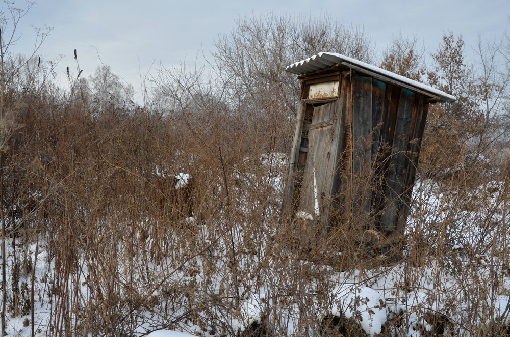
[[[370,212],[370,183],[367,164],[372,160],[372,78],[354,76],[352,82],[353,207],[358,213]]]

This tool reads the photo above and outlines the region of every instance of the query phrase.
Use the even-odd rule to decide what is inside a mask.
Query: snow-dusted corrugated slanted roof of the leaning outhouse
[[[348,56],[332,52],[320,52],[317,55],[313,55],[311,58],[289,65],[285,70],[293,74],[302,75],[326,69],[339,63],[361,73],[386,77],[390,81],[395,82],[396,85],[410,90],[414,89],[415,91],[420,91],[432,97],[439,98],[440,102],[454,102],[457,100],[454,96],[442,92],[441,90],[426,86],[423,83],[397,75],[391,71],[372,66],[368,63],[349,58]]]

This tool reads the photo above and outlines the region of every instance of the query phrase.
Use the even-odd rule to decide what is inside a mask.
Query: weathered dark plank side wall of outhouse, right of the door
[[[353,212],[369,214],[380,231],[403,234],[427,98],[367,76],[353,76],[352,84]]]

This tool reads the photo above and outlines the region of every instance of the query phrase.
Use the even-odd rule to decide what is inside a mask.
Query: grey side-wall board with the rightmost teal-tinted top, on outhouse
[[[405,168],[407,168],[406,151],[409,144],[409,128],[414,108],[415,94],[402,89],[398,106],[397,122],[393,137],[392,154],[388,168],[385,187],[386,209],[381,216],[381,224],[385,231],[399,231],[398,217],[401,216],[401,202]]]

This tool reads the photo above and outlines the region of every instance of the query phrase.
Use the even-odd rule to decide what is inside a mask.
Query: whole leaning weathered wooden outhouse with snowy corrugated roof
[[[402,234],[428,106],[455,97],[336,53],[286,71],[301,82],[286,218]]]

